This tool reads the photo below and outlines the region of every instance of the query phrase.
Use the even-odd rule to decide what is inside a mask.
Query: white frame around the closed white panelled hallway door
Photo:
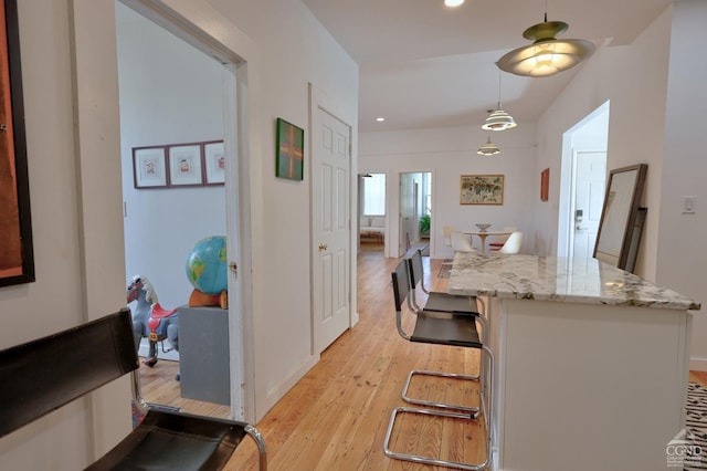
[[[309,200],[313,201],[313,188],[314,185],[317,184],[315,181],[314,175],[314,158],[312,149],[314,149],[313,145],[313,134],[315,129],[315,116],[317,109],[321,108],[325,112],[329,113],[331,116],[339,119],[341,123],[346,124],[349,128],[349,328],[358,323],[358,311],[356,303],[356,259],[358,255],[358,250],[355,248],[358,247],[358,222],[351,223],[351,220],[356,217],[358,218],[358,172],[356,168],[358,167],[358,159],[356,158],[356,140],[354,136],[356,135],[356,127],[352,123],[350,116],[341,111],[341,108],[336,104],[336,101],[328,95],[326,95],[321,90],[318,90],[313,83],[309,83],[309,138],[307,145],[309,146]],[[320,352],[317,352],[316,341],[315,341],[315,311],[314,311],[314,268],[315,268],[315,258],[317,254],[314,252],[316,241],[314,240],[315,233],[315,208],[310,206],[309,208],[309,280],[312,282],[313,293],[312,293],[312,312],[310,312],[310,322],[312,322],[312,342],[310,342],[310,353],[313,356],[318,357]]]

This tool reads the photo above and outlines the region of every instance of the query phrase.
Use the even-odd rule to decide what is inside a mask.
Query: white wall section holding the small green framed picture
[[[258,45],[262,155],[262,224],[253,237],[256,412],[272,407],[316,362],[312,352],[309,154],[304,181],[275,178],[274,123],[282,117],[309,136],[308,88],[313,83],[351,117],[357,140],[358,66],[299,1],[210,0]],[[356,145],[354,146],[356,159]],[[356,161],[354,163],[356,168]],[[352,296],[352,308],[356,308]]]

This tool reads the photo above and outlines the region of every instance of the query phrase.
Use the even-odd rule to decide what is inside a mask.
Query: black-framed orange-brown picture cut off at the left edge
[[[34,281],[15,0],[0,2],[0,286]]]

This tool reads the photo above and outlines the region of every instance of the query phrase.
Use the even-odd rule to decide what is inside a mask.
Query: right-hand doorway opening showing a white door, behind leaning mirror
[[[558,257],[592,258],[606,182],[609,102],[562,137]]]

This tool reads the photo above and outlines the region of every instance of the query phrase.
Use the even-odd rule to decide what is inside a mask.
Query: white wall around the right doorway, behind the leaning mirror
[[[536,168],[550,168],[551,205],[536,205],[535,211],[545,254],[557,253],[559,178],[552,176],[560,175],[562,135],[610,101],[606,169],[648,164],[643,198],[648,214],[636,274],[655,281],[669,31],[668,8],[631,45],[599,49],[538,122]]]

